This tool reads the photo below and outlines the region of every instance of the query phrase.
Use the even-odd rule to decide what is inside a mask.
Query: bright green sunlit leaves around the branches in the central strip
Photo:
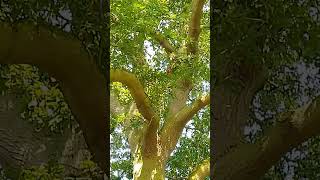
[[[111,1],[111,69],[134,74],[141,82],[160,125],[166,122],[174,89],[181,79],[189,79],[193,88],[187,105],[209,92],[209,3],[203,8],[197,54],[187,53],[192,1]],[[166,44],[167,43],[167,44]],[[168,45],[170,44],[170,46]],[[168,45],[168,46],[166,46]],[[165,48],[167,47],[167,48]],[[176,64],[171,50],[177,50]],[[173,69],[173,73],[168,69]],[[119,100],[123,113],[111,115],[112,178],[132,178],[133,157],[125,136],[126,110],[134,99],[130,89],[112,83],[111,93]],[[131,128],[143,126],[138,112],[131,117]],[[160,127],[161,127],[160,126]],[[160,128],[161,129],[161,128]],[[161,131],[159,129],[159,132]],[[130,155],[131,153],[131,155]],[[166,177],[187,178],[193,168],[209,157],[209,108],[200,110],[185,126],[176,150],[166,165]]]

